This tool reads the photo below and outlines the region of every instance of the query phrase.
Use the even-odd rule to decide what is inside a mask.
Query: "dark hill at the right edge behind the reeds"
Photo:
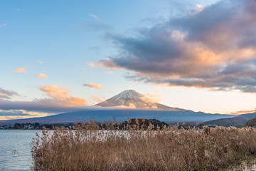
[[[255,118],[256,113],[243,114],[233,118],[222,118],[210,120],[202,123],[203,125],[222,125],[222,126],[243,126],[248,120]]]

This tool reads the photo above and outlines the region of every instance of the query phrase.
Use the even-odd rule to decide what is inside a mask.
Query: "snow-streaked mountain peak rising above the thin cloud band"
[[[102,107],[126,106],[129,108],[140,109],[183,110],[181,108],[171,108],[160,103],[151,102],[151,100],[146,98],[144,95],[137,93],[135,90],[124,90],[122,93],[114,95],[114,97],[96,105]]]

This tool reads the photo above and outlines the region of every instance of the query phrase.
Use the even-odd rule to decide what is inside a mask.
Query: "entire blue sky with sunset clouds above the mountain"
[[[256,105],[254,0],[0,1],[0,120],[136,90],[205,113]]]

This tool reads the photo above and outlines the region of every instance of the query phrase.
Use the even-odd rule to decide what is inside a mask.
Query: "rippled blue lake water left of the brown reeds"
[[[0,170],[31,170],[32,138],[41,130],[0,130]]]

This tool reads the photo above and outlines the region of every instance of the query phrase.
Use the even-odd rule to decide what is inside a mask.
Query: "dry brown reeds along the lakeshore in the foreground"
[[[222,170],[256,157],[256,128],[120,125],[96,121],[43,130],[34,170]]]

